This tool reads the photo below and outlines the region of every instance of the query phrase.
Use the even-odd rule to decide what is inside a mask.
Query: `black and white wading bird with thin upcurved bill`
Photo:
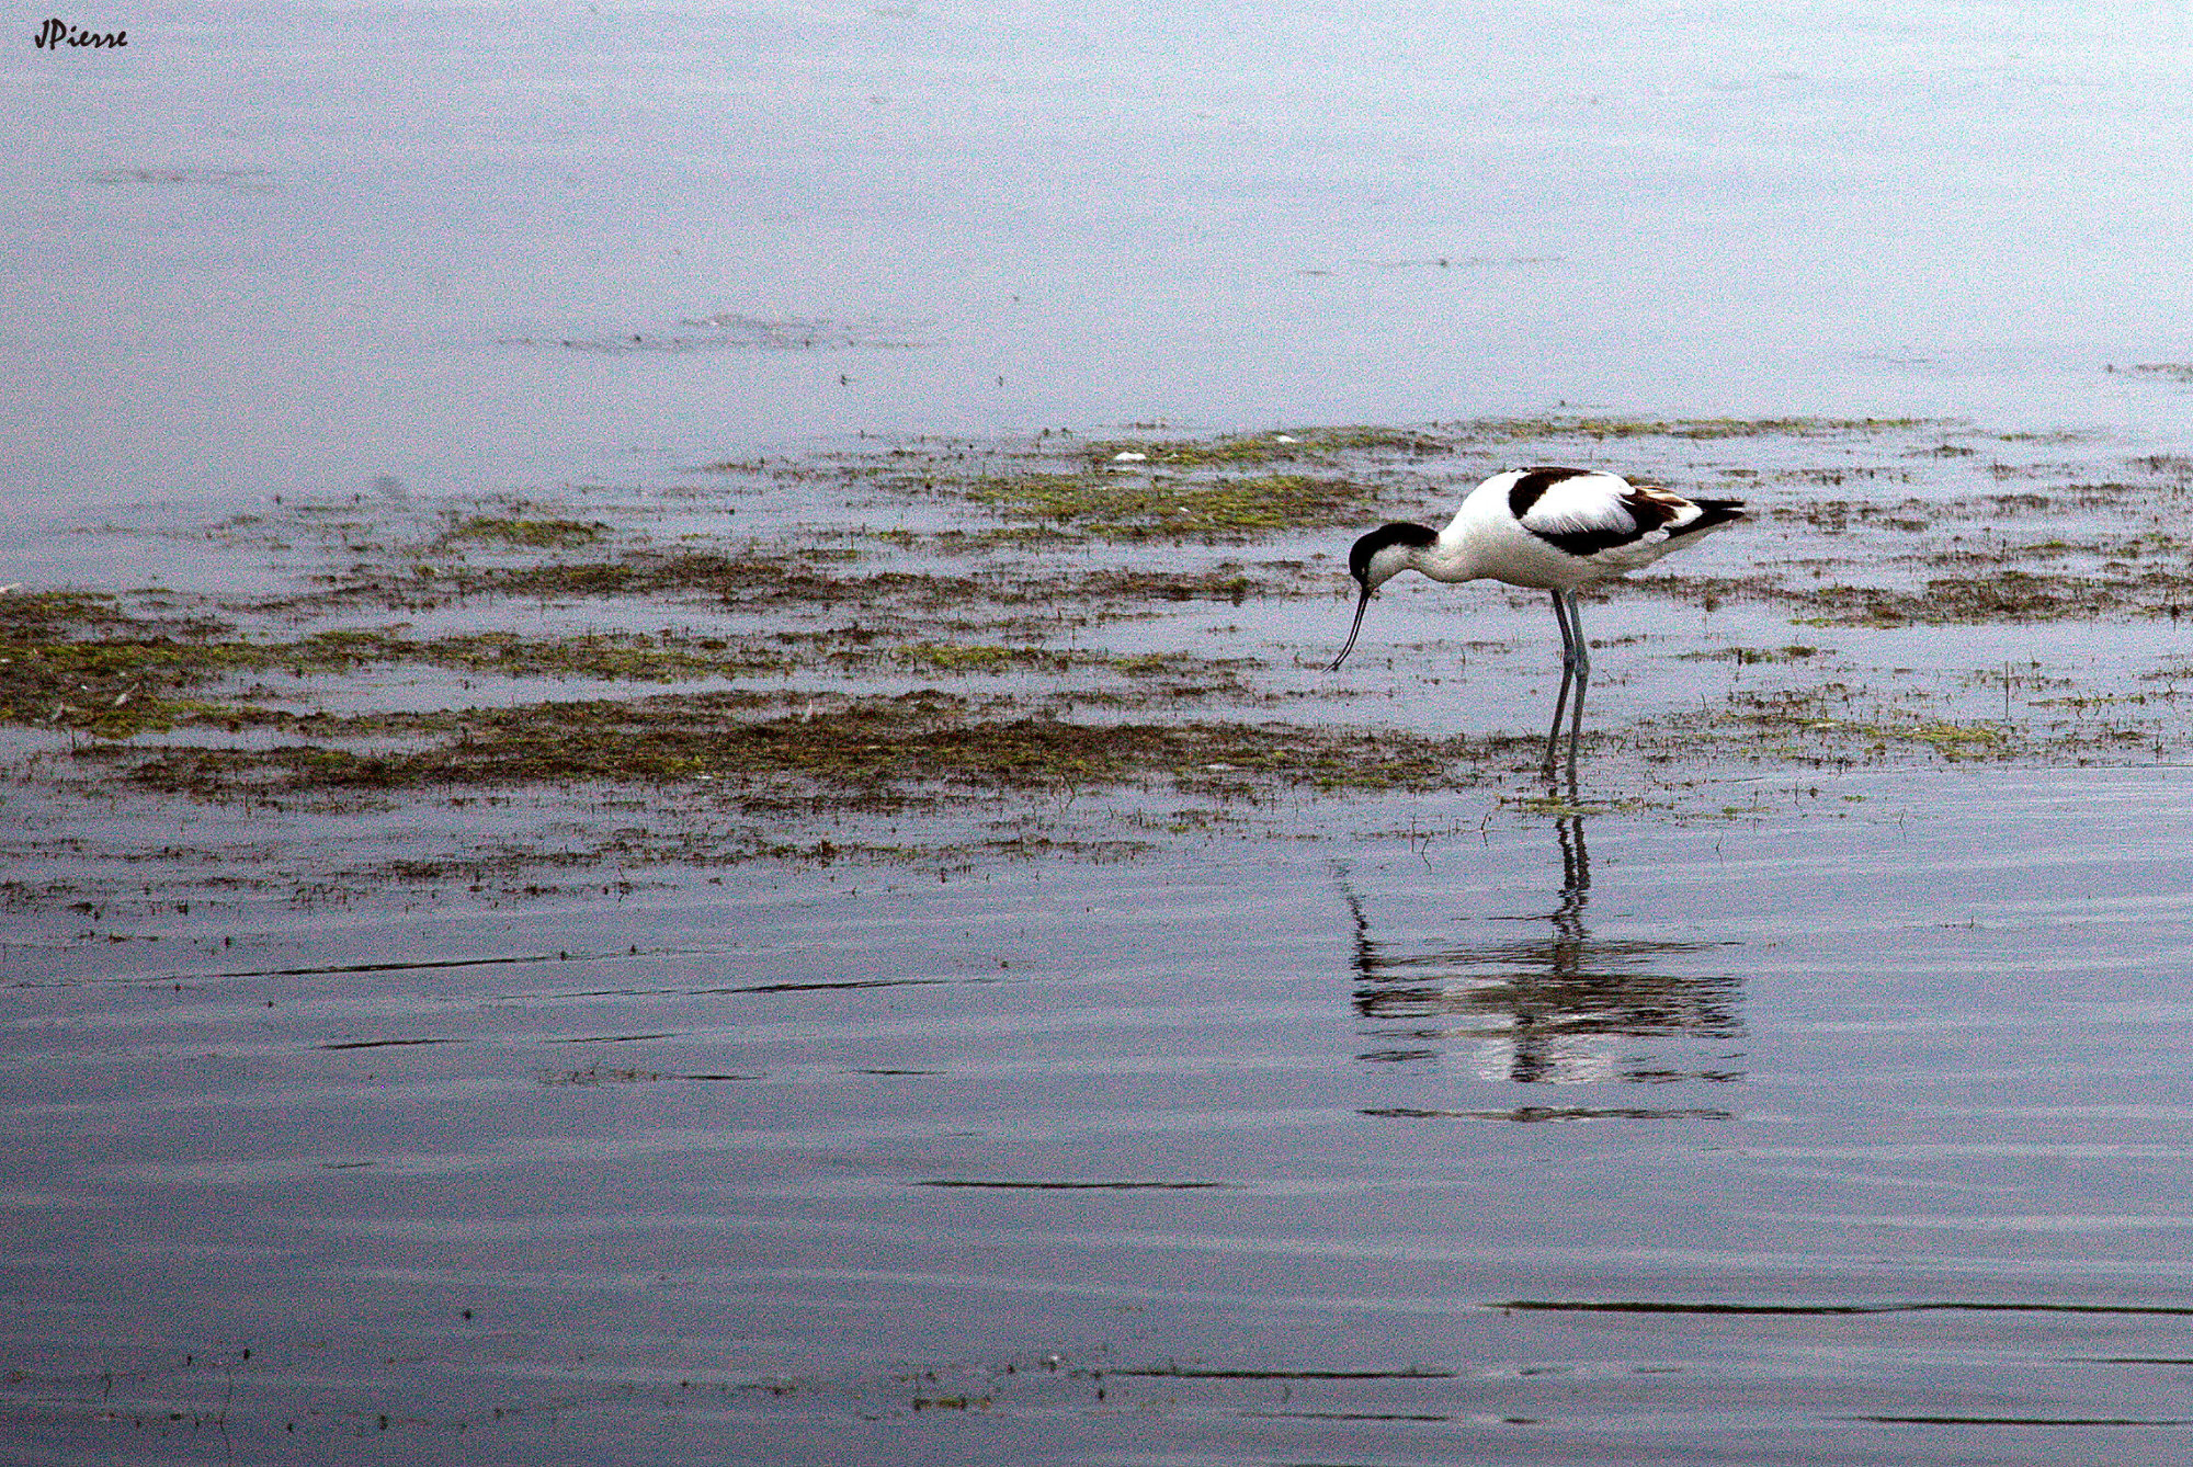
[[[1553,592],[1561,623],[1561,693],[1546,735],[1546,778],[1553,778],[1561,741],[1561,710],[1575,686],[1568,724],[1568,783],[1577,783],[1577,735],[1583,730],[1583,689],[1592,656],[1583,640],[1577,590],[1654,564],[1669,550],[1697,544],[1711,531],[1743,520],[1743,500],[1686,500],[1656,485],[1632,485],[1599,469],[1507,469],[1469,491],[1443,531],[1423,524],[1382,524],[1349,550],[1349,575],[1362,585],[1349,645],[1355,647],[1371,592],[1417,570],[1434,581],[1491,577],[1509,585]]]

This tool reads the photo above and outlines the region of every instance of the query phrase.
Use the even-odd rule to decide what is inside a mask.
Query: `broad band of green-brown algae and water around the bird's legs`
[[[1572,417],[864,443],[86,526],[195,583],[0,596],[13,855],[75,842],[77,873],[15,890],[116,862],[189,886],[189,853],[147,862],[143,835],[186,809],[467,811],[355,871],[493,849],[515,882],[529,860],[1320,838],[1397,794],[1522,807],[1553,671],[1537,596],[1395,583],[1366,656],[1325,660],[1360,528],[1579,460],[1754,511],[1592,610],[1599,807],[1715,818],[1743,809],[1717,785],[1774,770],[2186,750],[2193,460],[2099,436]],[[281,590],[221,590],[237,570]],[[88,840],[94,809],[110,833]],[[254,879],[311,882],[298,840],[270,831]]]

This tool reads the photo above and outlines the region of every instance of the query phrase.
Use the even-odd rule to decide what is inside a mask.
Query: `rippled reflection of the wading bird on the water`
[[[1485,1081],[1743,1079],[1732,1053],[1743,1035],[1741,980],[1667,971],[1662,963],[1722,943],[1594,939],[1583,923],[1592,890],[1583,820],[1566,816],[1555,831],[1555,910],[1493,919],[1544,928],[1482,943],[1425,949],[1384,941],[1342,873],[1340,892],[1355,914],[1355,1011],[1364,1035],[1382,1042],[1364,1059],[1432,1059],[1467,1039]]]

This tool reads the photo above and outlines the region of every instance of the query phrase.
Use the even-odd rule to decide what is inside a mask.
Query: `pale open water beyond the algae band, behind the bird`
[[[2186,432],[2105,371],[2193,355],[2182,7],[116,20],[0,50],[18,515],[1147,419]]]

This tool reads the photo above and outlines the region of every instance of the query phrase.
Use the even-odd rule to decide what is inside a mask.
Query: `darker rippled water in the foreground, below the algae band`
[[[2182,1460],[2182,781],[178,917],[13,989],[15,1454]]]

